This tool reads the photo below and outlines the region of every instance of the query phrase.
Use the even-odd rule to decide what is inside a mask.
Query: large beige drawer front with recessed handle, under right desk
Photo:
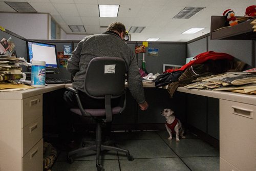
[[[256,106],[220,100],[220,156],[240,170],[256,170]]]

